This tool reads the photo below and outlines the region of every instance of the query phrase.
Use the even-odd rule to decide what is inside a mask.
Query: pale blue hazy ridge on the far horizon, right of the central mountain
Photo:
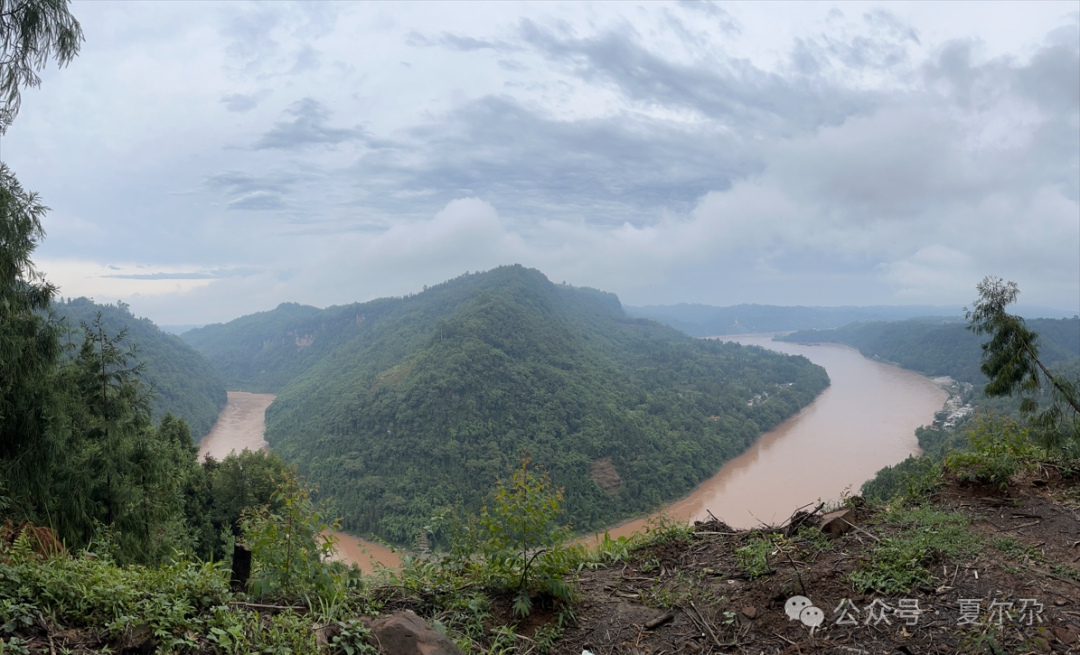
[[[960,319],[960,307],[933,305],[880,305],[875,307],[780,307],[777,305],[651,305],[626,307],[626,313],[671,325],[690,336],[719,336],[755,332],[828,330],[849,323],[901,321],[917,317]],[[1047,307],[1023,306],[1017,313],[1025,318],[1068,318],[1072,312]]]

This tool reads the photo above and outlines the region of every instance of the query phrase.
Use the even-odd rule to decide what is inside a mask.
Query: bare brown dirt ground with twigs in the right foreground
[[[735,557],[754,532],[698,523],[688,544],[650,547],[625,564],[583,572],[577,624],[552,652],[1080,653],[1078,484],[1052,469],[1018,480],[1004,493],[948,484],[933,502],[967,513],[983,548],[963,561],[937,562],[931,567],[933,584],[902,596],[861,594],[847,579],[869,547],[893,530],[866,507],[854,509],[855,527],[835,538],[833,548],[818,551],[795,538],[786,553],[770,553],[772,573],[756,579]],[[990,546],[1003,537],[1014,538],[1008,542],[1027,557]],[[788,618],[785,602],[793,596],[821,607],[820,627],[811,631]],[[845,599],[858,614],[837,612]],[[961,599],[980,600],[977,623],[958,625]],[[921,614],[904,612],[916,602]],[[1012,606],[1002,605],[1009,602]],[[885,618],[881,603],[893,610]],[[995,614],[1001,615],[1001,627]],[[855,625],[837,625],[841,619]],[[664,623],[650,629],[650,621]]]

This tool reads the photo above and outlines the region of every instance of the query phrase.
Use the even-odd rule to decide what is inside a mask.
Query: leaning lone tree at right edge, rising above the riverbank
[[[990,335],[982,345],[981,370],[989,380],[984,392],[1020,396],[1021,413],[1043,447],[1080,449],[1080,385],[1051,373],[1039,360],[1039,335],[1023,318],[1005,311],[1016,302],[1020,288],[987,276],[976,290],[978,298],[973,309],[964,309],[964,318],[969,330]],[[1040,411],[1039,399],[1048,395],[1050,402]]]

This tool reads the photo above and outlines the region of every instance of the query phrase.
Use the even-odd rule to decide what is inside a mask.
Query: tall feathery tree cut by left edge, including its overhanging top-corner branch
[[[82,28],[67,8],[67,0],[0,0],[0,135],[18,113],[21,88],[40,83],[36,71],[51,56],[63,66],[78,54]],[[48,377],[59,356],[59,329],[43,316],[56,288],[30,259],[46,211],[0,162],[0,480],[24,513],[44,497],[42,467],[57,454]]]

